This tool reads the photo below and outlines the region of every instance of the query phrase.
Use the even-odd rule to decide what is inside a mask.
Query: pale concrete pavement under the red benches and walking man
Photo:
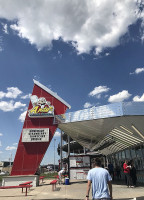
[[[83,200],[86,194],[86,181],[73,181],[70,185],[57,185],[56,191],[52,192],[50,180],[44,180],[44,184],[31,188],[28,196],[21,193],[21,189],[0,189],[2,200]],[[91,193],[91,192],[90,192]],[[136,199],[134,199],[136,198]],[[91,199],[91,196],[90,196]],[[127,188],[121,182],[113,183],[114,200],[144,200],[144,187]]]

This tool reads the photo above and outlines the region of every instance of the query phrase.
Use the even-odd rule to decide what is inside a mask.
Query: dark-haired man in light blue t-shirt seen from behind
[[[101,167],[99,158],[94,160],[94,165],[87,175],[86,200],[89,200],[91,183],[93,200],[112,200],[112,178],[108,170]]]

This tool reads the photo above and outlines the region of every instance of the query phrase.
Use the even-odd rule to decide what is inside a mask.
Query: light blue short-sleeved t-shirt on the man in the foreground
[[[108,181],[112,181],[109,172],[101,167],[93,168],[88,172],[87,179],[92,182],[92,196],[94,199],[110,198]]]

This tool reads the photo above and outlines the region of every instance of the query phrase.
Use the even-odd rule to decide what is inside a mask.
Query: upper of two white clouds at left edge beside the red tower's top
[[[17,87],[8,87],[6,93],[0,91],[0,99],[4,97],[16,99],[20,94],[22,94],[22,91],[19,90]]]

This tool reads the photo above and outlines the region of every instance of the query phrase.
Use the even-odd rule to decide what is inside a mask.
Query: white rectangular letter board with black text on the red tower
[[[23,129],[22,142],[48,142],[49,128]]]

